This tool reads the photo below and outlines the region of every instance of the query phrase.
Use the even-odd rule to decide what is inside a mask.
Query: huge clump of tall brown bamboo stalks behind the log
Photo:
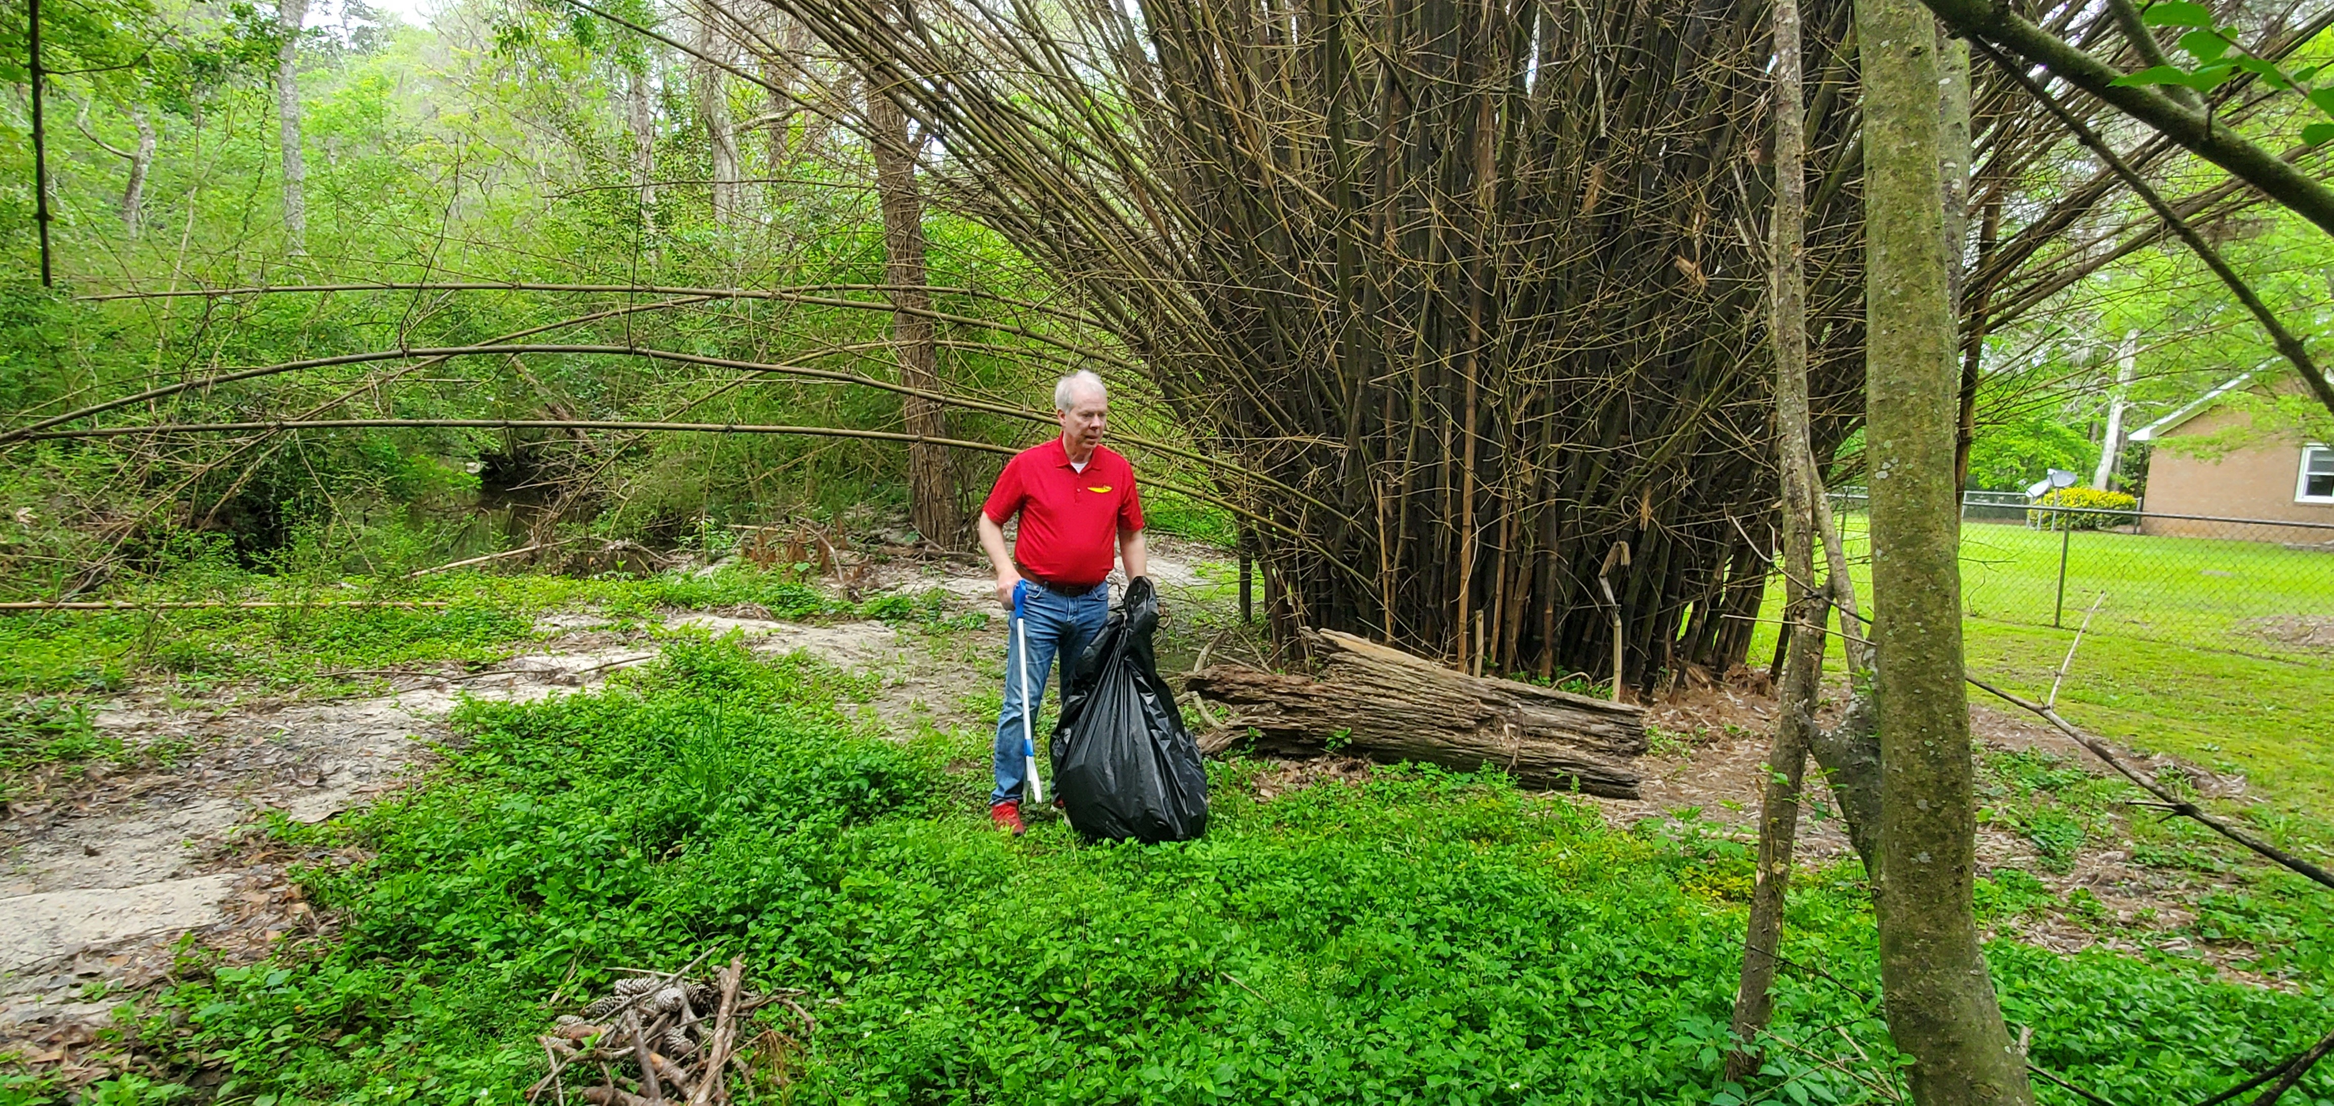
[[[773,2],[936,138],[943,203],[1134,352],[1253,513],[1279,630],[1540,677],[1617,646],[1641,688],[1743,660],[1776,488],[1767,5]],[[1849,28],[1809,5],[1818,457],[1863,406]],[[1958,79],[1968,434],[1986,329],[2164,231],[2096,219],[2115,177],[2063,180],[2059,124]]]

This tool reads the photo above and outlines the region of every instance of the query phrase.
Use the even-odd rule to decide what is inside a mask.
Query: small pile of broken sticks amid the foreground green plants
[[[693,968],[693,964],[691,964]],[[569,1094],[598,1106],[712,1106],[728,1099],[728,1071],[742,1069],[738,1034],[752,1010],[784,1003],[805,1027],[817,1027],[791,996],[747,994],[745,959],[733,959],[712,982],[677,973],[633,973],[581,1015],[562,1015],[539,1041],[551,1073],[527,1090],[527,1101],[567,1104]],[[787,1034],[766,1031],[777,1043]],[[576,1080],[581,1090],[569,1090]]]

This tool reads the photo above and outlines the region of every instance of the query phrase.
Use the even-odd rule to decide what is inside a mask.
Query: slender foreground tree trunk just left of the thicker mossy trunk
[[[1758,873],[1743,933],[1741,982],[1734,989],[1734,1041],[1727,1078],[1758,1071],[1755,1038],[1774,1015],[1783,898],[1800,835],[1800,782],[1816,735],[1823,684],[1823,595],[1816,590],[1816,455],[1807,406],[1807,135],[1800,107],[1800,0],[1774,5],[1774,273],[1767,331],[1774,341],[1774,450],[1783,476],[1783,684],[1760,800]]]

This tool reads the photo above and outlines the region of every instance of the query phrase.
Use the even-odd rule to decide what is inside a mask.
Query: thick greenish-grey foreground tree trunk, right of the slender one
[[[1940,180],[1937,26],[1919,0],[1858,0],[1865,91],[1865,448],[1879,642],[1888,1031],[1930,1104],[2031,1104],[1977,943],[1977,807],[1961,658],[1951,264]]]

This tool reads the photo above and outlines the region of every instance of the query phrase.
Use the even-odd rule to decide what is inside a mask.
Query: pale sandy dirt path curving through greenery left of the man
[[[1162,588],[1200,588],[1176,544],[1162,546],[1153,560]],[[964,562],[885,565],[864,588],[938,588],[952,614],[994,609],[990,576]],[[850,709],[901,735],[987,726],[971,705],[1004,672],[1004,618],[924,635],[728,609],[672,614],[665,630],[740,632],[759,653],[808,651],[878,677],[873,698]],[[266,819],[317,824],[411,779],[450,737],[446,714],[464,695],[525,702],[584,691],[658,653],[656,635],[616,632],[595,611],[546,616],[539,632],[532,651],[481,672],[401,672],[373,698],[187,700],[154,686],[103,705],[98,730],[147,754],[149,768],[61,777],[49,793],[9,803],[0,821],[0,1052],[70,1069],[124,992],[163,980],[180,950],[250,961],[285,940],[329,936],[287,866],[331,856],[266,840]]]

